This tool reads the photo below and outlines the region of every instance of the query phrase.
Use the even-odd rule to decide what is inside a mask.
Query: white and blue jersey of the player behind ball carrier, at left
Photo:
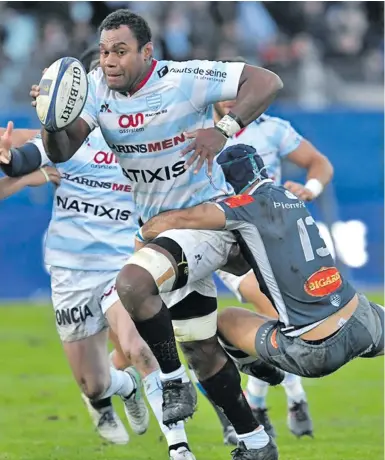
[[[50,161],[40,136],[33,142]],[[45,242],[45,264],[72,270],[120,270],[133,253],[138,228],[131,185],[99,129],[66,163],[56,165],[55,191]]]

